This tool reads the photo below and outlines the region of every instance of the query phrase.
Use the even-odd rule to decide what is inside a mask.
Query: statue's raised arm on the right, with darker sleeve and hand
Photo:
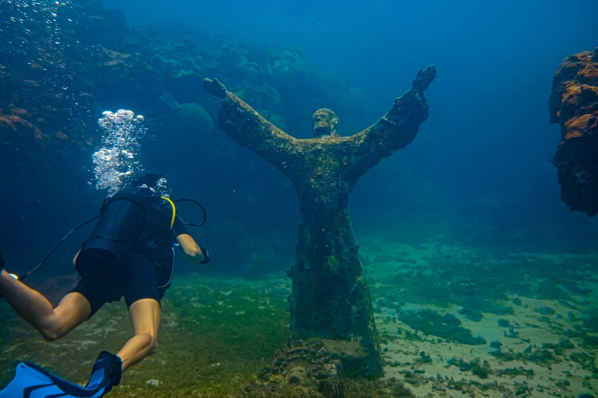
[[[419,71],[413,87],[395,100],[392,108],[375,124],[350,137],[355,145],[356,177],[393,151],[413,141],[419,125],[428,118],[428,104],[423,91],[436,76],[436,67]]]

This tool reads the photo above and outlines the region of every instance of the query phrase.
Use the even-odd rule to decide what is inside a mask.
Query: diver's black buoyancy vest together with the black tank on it
[[[174,208],[160,206],[156,199],[160,197],[138,188],[120,189],[106,198],[99,222],[75,258],[77,272],[84,278],[108,278],[126,267],[129,250],[154,259],[164,247],[172,247],[166,229],[172,226]]]

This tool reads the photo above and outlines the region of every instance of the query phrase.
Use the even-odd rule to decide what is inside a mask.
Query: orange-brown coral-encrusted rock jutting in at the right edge
[[[571,210],[598,213],[598,48],[570,56],[554,74],[550,122],[562,141],[553,164]]]

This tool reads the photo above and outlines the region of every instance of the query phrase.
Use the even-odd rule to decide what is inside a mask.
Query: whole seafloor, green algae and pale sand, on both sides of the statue
[[[392,236],[361,241],[385,360],[385,378],[377,382],[345,379],[340,387],[308,395],[309,363],[279,376],[263,372],[288,333],[291,286],[282,274],[254,281],[185,274],[164,298],[158,353],[127,372],[110,396],[596,394],[596,255],[499,253],[441,241],[419,246],[395,243]],[[471,267],[463,270],[463,264]],[[472,301],[481,303],[475,317],[463,311]],[[0,312],[7,330],[0,336],[0,382],[22,360],[84,382],[97,352],[117,349],[130,334],[120,302],[53,343],[6,305]],[[423,313],[434,327],[421,319],[412,323],[405,317],[410,313]],[[322,361],[331,360],[321,353]]]

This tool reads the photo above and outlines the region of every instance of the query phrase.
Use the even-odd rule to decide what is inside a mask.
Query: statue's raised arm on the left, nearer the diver
[[[204,90],[222,99],[218,128],[239,145],[251,149],[283,173],[298,160],[297,139],[261,117],[254,108],[227,91],[218,79],[204,79]]]

